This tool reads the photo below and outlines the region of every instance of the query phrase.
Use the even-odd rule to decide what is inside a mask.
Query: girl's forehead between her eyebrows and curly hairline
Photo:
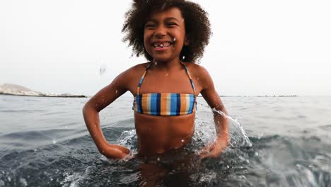
[[[165,18],[175,18],[178,19],[178,21],[181,21],[183,19],[182,11],[180,11],[180,9],[177,7],[167,8],[163,11],[152,11],[151,16],[147,18],[147,21],[162,20]]]

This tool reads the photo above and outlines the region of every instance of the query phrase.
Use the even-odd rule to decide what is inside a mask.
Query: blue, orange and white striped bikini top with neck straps
[[[142,81],[146,76],[147,69],[151,67],[150,63],[139,81],[137,96],[134,97],[132,109],[137,113],[149,115],[187,115],[193,113],[197,106],[194,84],[187,67],[182,62],[180,63],[190,79],[194,94],[140,94]]]

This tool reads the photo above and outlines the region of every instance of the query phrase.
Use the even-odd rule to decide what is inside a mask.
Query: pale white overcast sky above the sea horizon
[[[95,94],[146,62],[122,42],[131,2],[0,1],[0,84]],[[195,2],[213,32],[200,64],[220,95],[331,95],[331,1]]]

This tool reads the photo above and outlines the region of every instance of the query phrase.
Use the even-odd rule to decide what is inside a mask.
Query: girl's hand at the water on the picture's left
[[[106,145],[100,147],[99,152],[108,159],[124,159],[124,157],[127,157],[130,150],[120,145]]]

